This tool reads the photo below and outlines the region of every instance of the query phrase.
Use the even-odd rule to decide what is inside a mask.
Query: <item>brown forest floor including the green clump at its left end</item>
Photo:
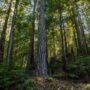
[[[28,82],[28,86],[26,85]],[[41,78],[35,77],[26,80],[26,82],[21,85],[26,85],[26,89],[19,90],[90,90],[90,83],[85,83],[81,81],[72,80],[60,80],[52,77]]]

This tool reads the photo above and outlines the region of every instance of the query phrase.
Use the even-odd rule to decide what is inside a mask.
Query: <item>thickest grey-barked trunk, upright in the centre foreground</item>
[[[45,0],[40,0],[40,22],[37,51],[37,71],[40,76],[47,75],[46,59]]]

